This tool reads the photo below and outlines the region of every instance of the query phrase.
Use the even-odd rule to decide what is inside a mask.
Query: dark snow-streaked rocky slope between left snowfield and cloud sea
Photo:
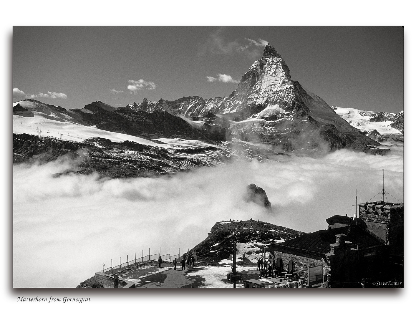
[[[13,134],[15,164],[35,161],[44,163],[62,156],[74,159],[77,164],[71,170],[62,171],[56,176],[96,172],[111,178],[127,178],[159,176],[198,166],[214,166],[230,154],[216,147],[170,149],[150,147],[131,141],[111,142],[104,138],[89,138],[81,143],[53,137]]]

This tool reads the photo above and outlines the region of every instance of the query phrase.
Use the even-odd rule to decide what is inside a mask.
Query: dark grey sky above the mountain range
[[[329,105],[404,108],[402,27],[13,27],[13,87],[25,93],[16,90],[13,102],[36,95],[69,109],[97,100],[125,106],[145,97],[228,96],[235,82],[207,76],[239,81],[264,41],[292,80]]]

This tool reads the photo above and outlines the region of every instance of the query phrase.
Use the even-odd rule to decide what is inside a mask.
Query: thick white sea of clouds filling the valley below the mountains
[[[13,167],[14,287],[75,287],[102,268],[136,256],[177,254],[206,238],[215,222],[260,219],[300,231],[352,216],[355,190],[366,201],[385,188],[403,201],[403,145],[386,156],[338,150],[316,159],[285,157],[198,168],[158,178],[100,179],[56,172],[57,160]],[[272,212],[243,200],[265,189]],[[379,199],[377,196],[375,199]],[[374,200],[375,200],[374,199]],[[396,201],[396,200],[393,200]],[[42,273],[42,275],[39,275]]]

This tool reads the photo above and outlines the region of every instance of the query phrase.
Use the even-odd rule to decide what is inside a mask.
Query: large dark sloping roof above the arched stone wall
[[[270,247],[275,251],[297,251],[298,253],[324,257],[325,253],[329,253],[331,250],[329,244],[335,243],[336,234],[347,235],[346,241],[352,242],[352,247],[357,245],[360,247],[380,245],[380,241],[372,236],[369,231],[359,226],[349,225],[316,231],[279,244],[270,244]]]

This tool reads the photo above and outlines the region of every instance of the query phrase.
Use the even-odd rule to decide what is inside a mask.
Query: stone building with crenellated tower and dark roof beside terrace
[[[269,244],[277,266],[303,277],[317,269],[320,278],[310,287],[373,287],[374,281],[403,287],[404,204],[358,206],[358,218],[334,215],[327,230]]]

